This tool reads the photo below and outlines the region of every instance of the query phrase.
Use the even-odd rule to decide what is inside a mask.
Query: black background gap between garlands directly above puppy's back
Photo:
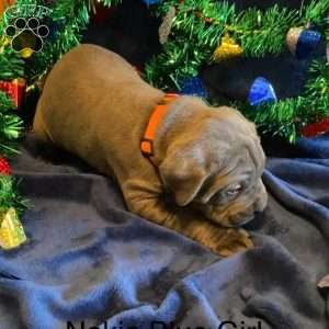
[[[109,48],[138,68],[161,50],[158,41],[160,21],[150,14],[143,1],[124,0],[111,9],[102,4],[97,9],[82,43]]]

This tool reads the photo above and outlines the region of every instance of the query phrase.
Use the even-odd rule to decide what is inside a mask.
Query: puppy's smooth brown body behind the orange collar
[[[121,162],[118,158],[138,151],[149,112],[161,98],[162,92],[143,81],[122,57],[84,44],[49,72],[33,128],[38,138],[105,171],[104,157]],[[132,140],[134,147],[123,147],[123,140]]]

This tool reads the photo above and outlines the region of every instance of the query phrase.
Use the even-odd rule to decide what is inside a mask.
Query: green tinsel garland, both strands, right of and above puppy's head
[[[303,1],[299,10],[274,5],[266,11],[251,8],[239,13],[225,1],[164,0],[152,7],[152,12],[164,18],[160,27],[164,44],[162,53],[147,64],[145,79],[168,91],[184,91],[186,81],[198,77],[204,65],[236,56],[279,55],[286,47],[288,33],[294,38],[296,32],[313,29],[329,39],[329,0],[314,0],[308,5]],[[288,46],[291,50],[296,48],[294,39]],[[248,102],[232,105],[262,133],[277,134],[294,143],[303,127],[329,116],[328,86],[328,63],[320,59],[313,63],[300,97],[257,109]]]

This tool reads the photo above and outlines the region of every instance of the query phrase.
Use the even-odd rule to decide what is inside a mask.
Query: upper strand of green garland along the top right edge
[[[236,13],[235,5],[226,1],[185,0],[180,4],[177,1],[163,1],[155,8],[155,12],[156,15],[163,15],[174,5],[178,14],[172,37],[183,36],[183,41],[193,44],[194,48],[204,46],[208,52],[214,52],[226,30],[242,46],[246,56],[262,57],[283,50],[286,33],[292,26],[306,26],[309,22],[320,26],[328,23],[328,2],[313,1],[299,11],[275,4],[264,12],[251,8]]]

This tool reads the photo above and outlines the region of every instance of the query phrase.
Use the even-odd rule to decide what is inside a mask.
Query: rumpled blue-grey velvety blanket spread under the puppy
[[[222,259],[125,209],[110,179],[42,155],[12,166],[33,207],[29,242],[0,251],[1,329],[326,329],[329,136],[269,158],[256,248]]]

